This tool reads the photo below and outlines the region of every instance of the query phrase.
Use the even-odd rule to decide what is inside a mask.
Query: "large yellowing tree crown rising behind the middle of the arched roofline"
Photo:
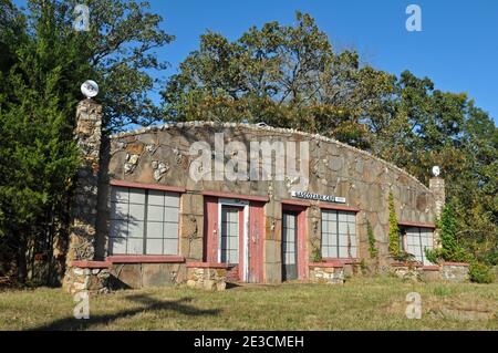
[[[207,32],[163,91],[165,118],[248,121],[294,127],[369,146],[360,123],[394,76],[334,53],[309,14],[295,25],[269,22],[238,40]]]

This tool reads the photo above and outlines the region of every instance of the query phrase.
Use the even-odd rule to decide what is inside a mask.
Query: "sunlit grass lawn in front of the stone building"
[[[408,292],[422,295],[421,320],[405,316]],[[91,295],[90,320],[74,319],[73,308],[61,289],[3,291],[0,330],[498,330],[498,284],[386,277],[224,292],[172,287]],[[448,310],[480,316],[453,316]]]

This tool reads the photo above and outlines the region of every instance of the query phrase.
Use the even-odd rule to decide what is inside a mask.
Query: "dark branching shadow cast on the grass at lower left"
[[[34,329],[31,329],[30,331],[92,330],[92,326],[94,325],[111,324],[117,319],[133,316],[145,311],[169,310],[188,316],[217,315],[220,313],[219,309],[203,310],[188,305],[187,303],[193,300],[191,298],[181,298],[173,301],[160,301],[147,295],[136,294],[126,297],[125,299],[141,303],[143,305],[112,314],[92,315],[92,311],[90,311],[90,319],[77,320],[74,316],[69,316],[37,326]]]

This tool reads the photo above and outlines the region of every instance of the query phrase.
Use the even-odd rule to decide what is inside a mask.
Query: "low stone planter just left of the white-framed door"
[[[208,291],[227,288],[227,264],[214,262],[188,262],[187,287]]]

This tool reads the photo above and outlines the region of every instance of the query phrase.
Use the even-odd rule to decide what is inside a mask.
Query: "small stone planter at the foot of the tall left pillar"
[[[71,294],[81,291],[108,293],[111,291],[110,267],[111,263],[106,261],[72,261],[63,287]]]

